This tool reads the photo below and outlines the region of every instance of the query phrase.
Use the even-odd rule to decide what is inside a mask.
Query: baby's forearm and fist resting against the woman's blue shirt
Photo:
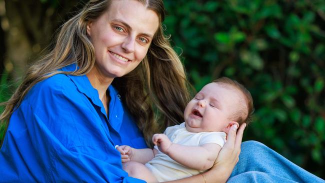
[[[116,149],[121,153],[122,162],[136,161],[144,164],[154,157],[153,150],[150,148],[132,148],[128,145],[120,145]]]

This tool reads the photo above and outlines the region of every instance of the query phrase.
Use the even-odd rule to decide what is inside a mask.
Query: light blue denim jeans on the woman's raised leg
[[[257,141],[241,143],[239,161],[227,182],[325,182]]]

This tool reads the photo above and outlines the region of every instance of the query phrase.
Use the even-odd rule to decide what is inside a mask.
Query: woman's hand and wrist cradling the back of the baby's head
[[[225,182],[229,178],[232,169],[239,160],[240,144],[245,127],[246,123],[241,124],[238,130],[236,130],[236,124],[231,126],[227,134],[227,141],[216,157],[214,165],[202,174],[206,182]]]

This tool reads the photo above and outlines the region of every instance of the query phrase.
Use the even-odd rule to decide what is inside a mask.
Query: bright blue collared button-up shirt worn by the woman
[[[62,68],[75,69],[75,64]],[[35,84],[11,115],[0,149],[0,182],[144,182],[122,170],[116,144],[145,148],[113,86],[109,113],[87,76]]]

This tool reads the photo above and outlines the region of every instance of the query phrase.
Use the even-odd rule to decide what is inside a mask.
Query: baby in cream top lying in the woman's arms
[[[147,182],[180,179],[212,167],[231,125],[250,122],[253,101],[238,82],[221,77],[206,84],[184,110],[185,122],[154,134],[153,149],[120,145],[123,169]]]

